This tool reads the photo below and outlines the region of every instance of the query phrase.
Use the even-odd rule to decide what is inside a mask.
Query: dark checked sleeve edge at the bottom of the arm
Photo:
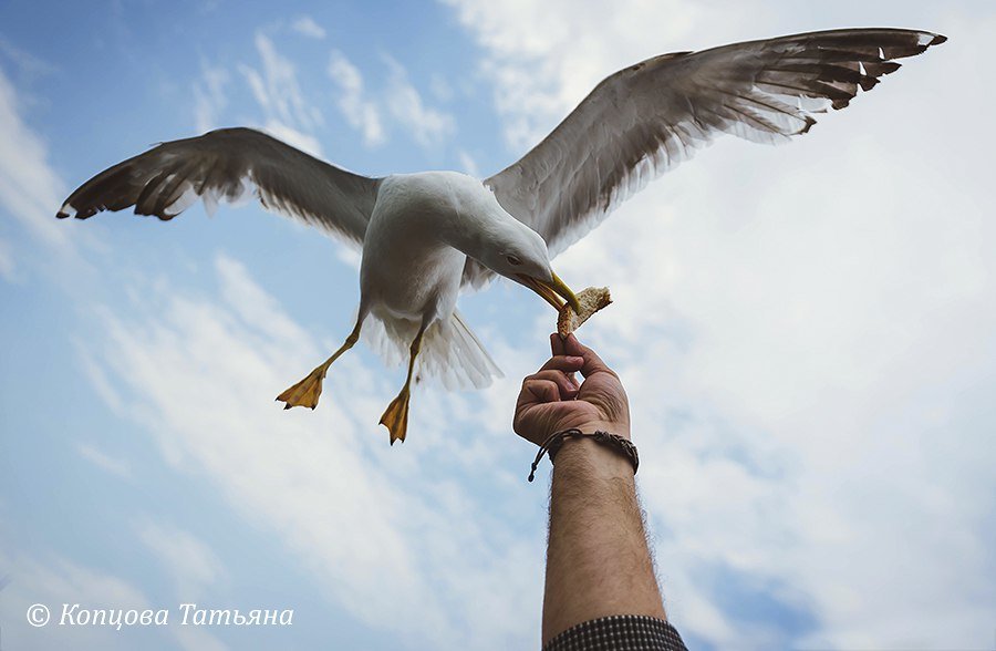
[[[687,651],[673,626],[645,614],[613,614],[580,623],[542,651]]]

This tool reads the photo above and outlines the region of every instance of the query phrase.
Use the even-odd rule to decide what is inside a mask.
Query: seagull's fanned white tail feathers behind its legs
[[[363,324],[363,339],[386,362],[407,363],[408,347],[417,331],[414,321],[371,317]],[[483,389],[494,378],[504,376],[457,311],[448,321],[435,321],[425,331],[415,375],[419,380],[438,380],[449,390]]]

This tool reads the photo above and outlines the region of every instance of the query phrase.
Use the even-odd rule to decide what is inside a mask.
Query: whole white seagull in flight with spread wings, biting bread
[[[606,78],[541,143],[483,180],[457,172],[372,178],[258,131],[221,128],[97,174],[56,216],[86,219],[134,206],[165,221],[198,198],[212,214],[219,200],[255,195],[264,208],[359,247],[353,330],[277,400],[314,409],[329,366],[361,331],[388,352],[404,355],[407,347],[405,383],[381,417],[393,445],[405,440],[416,358],[447,386],[480,388],[500,376],[456,309],[463,291],[504,276],[558,310],[579,310],[550,259],[652,178],[720,134],[760,143],[805,134],[815,114],[843,108],[859,89],[896,71],[896,59],[945,40],[845,29],[654,56]]]

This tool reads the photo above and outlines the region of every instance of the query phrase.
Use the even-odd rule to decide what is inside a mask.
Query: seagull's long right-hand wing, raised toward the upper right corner
[[[945,40],[833,30],[647,59],[605,79],[543,142],[485,183],[557,255],[719,134],[774,143],[806,133],[813,113],[843,108],[858,89],[898,70],[894,59]],[[489,275],[468,260],[464,285]]]

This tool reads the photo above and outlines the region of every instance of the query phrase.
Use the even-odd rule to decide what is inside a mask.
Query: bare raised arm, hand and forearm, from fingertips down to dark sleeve
[[[619,376],[573,335],[551,337],[553,356],[526,378],[515,430],[542,444],[577,427],[630,438]],[[574,372],[584,376],[578,384]],[[567,629],[612,614],[665,619],[654,577],[633,467],[591,438],[567,440],[553,466],[543,595],[543,644]]]

